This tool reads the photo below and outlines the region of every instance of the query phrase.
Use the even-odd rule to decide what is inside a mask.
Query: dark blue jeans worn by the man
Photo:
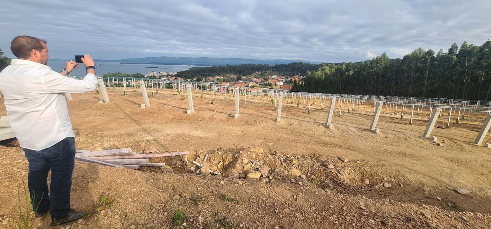
[[[29,161],[27,186],[33,211],[37,214],[50,211],[52,220],[65,218],[70,212],[75,138],[67,137],[44,150],[24,149],[24,152]],[[51,193],[48,191],[47,180],[50,170]]]

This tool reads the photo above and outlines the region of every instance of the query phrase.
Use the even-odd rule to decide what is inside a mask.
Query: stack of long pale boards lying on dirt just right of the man
[[[131,148],[105,150],[105,151],[87,151],[76,150],[75,159],[83,162],[97,163],[112,167],[124,167],[137,169],[139,166],[162,167],[164,163],[149,163],[148,159],[153,157],[177,156],[188,154],[189,151],[174,153],[135,153]]]

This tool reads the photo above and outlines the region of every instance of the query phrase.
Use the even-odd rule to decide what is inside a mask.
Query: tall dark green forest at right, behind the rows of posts
[[[361,63],[324,63],[307,72],[294,90],[488,100],[491,90],[491,41],[482,46],[454,43],[436,53],[421,48],[402,59],[385,53]]]

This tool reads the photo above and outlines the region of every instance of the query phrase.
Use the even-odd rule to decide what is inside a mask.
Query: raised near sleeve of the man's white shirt
[[[55,71],[47,72],[41,82],[45,93],[85,93],[97,88],[97,78],[94,74],[87,74],[83,80],[69,78]]]

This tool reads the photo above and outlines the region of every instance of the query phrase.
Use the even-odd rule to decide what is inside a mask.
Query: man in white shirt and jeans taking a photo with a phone
[[[70,208],[75,134],[64,93],[96,89],[94,61],[84,55],[87,75],[78,80],[66,77],[78,68],[74,61],[67,62],[59,73],[46,66],[49,55],[44,40],[18,36],[12,40],[11,50],[18,59],[1,71],[0,91],[10,126],[29,162],[27,184],[33,210],[36,217],[50,212],[52,226],[75,222],[85,212]]]

